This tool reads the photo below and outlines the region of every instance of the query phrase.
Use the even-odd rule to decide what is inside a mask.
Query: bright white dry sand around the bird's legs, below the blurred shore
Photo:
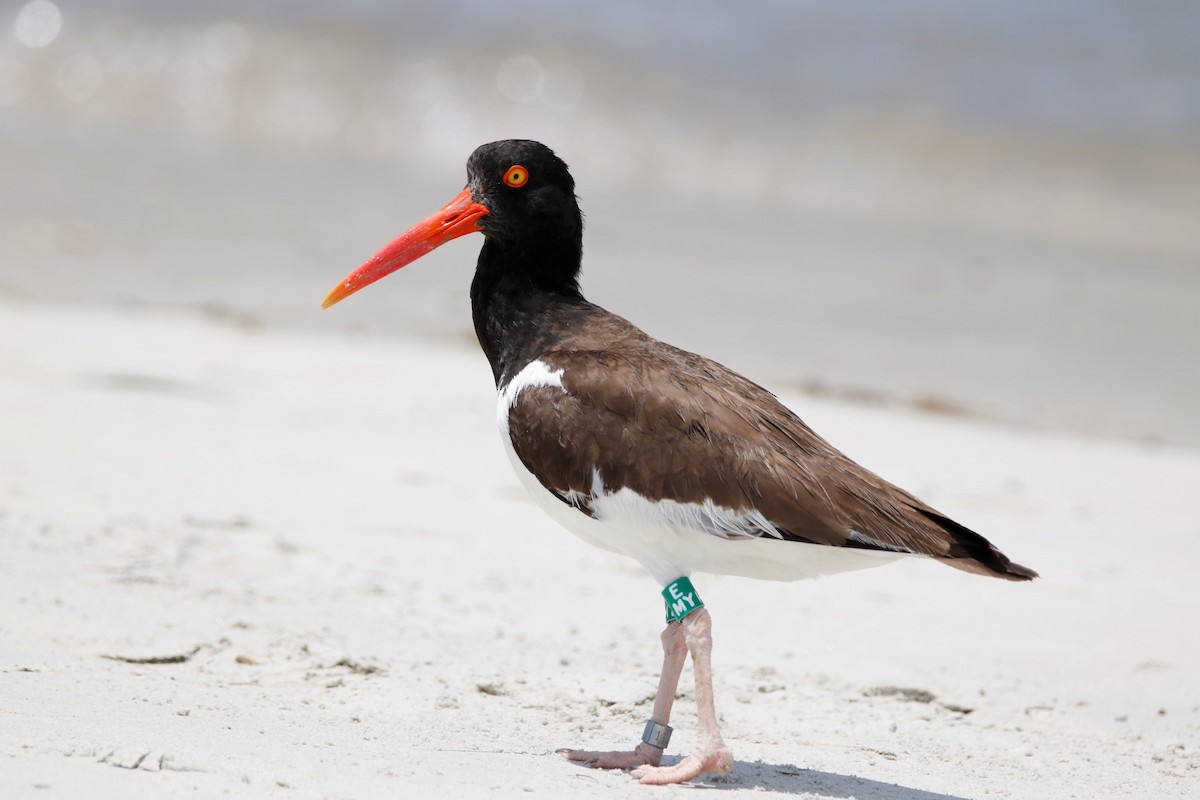
[[[695,790],[553,754],[636,741],[661,604],[526,499],[478,353],[19,305],[0,342],[0,796]],[[700,576],[703,786],[1200,796],[1200,455],[785,401],[1044,577]]]

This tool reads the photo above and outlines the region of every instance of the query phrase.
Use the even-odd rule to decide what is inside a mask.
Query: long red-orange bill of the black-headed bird
[[[320,307],[329,308],[335,302],[344,300],[386,275],[391,275],[406,264],[412,264],[451,239],[480,230],[479,219],[486,213],[487,206],[475,203],[470,197],[470,190],[464,188],[440,211],[396,236],[383,249],[367,259],[362,266],[342,278],[342,282],[325,296]]]

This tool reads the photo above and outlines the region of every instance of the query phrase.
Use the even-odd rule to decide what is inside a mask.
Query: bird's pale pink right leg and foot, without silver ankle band
[[[696,715],[700,721],[696,748],[674,766],[659,766],[658,760],[634,770],[642,783],[682,783],[702,772],[728,772],[733,752],[725,746],[716,728],[713,702],[713,619],[707,608],[697,608],[683,618],[684,638],[696,672]]]

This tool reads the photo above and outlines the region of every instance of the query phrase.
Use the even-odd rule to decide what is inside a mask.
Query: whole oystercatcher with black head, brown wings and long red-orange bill
[[[694,572],[796,581],[923,555],[1008,581],[1037,577],[852,462],[767,390],[584,300],[575,181],[540,143],[476,149],[467,187],[347,276],[324,307],[474,231],[484,247],[472,315],[512,468],[551,517],[636,559],[664,587],[662,674],[641,744],[560,751],[571,760],[632,769],[643,783],[732,768],[713,703],[712,620]],[[697,745],[660,766],[689,654]]]

